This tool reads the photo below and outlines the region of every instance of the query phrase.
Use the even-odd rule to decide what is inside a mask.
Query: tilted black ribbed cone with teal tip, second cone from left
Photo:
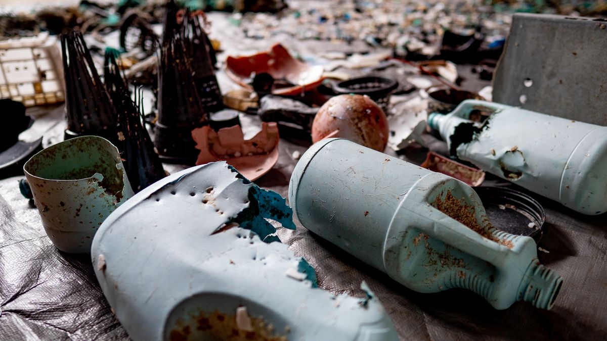
[[[139,192],[166,177],[166,173],[143,125],[141,93],[135,93],[135,101],[131,100],[131,92],[120,75],[114,51],[106,52],[104,78],[107,92],[118,113],[118,149],[131,187]]]

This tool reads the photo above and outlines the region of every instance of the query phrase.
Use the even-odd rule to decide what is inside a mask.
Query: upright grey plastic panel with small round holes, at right
[[[607,126],[606,38],[605,18],[515,13],[493,101]]]

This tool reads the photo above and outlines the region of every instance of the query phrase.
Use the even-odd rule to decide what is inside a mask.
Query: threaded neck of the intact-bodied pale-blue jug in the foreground
[[[519,300],[531,302],[541,309],[550,309],[563,285],[563,277],[534,260],[519,287]]]

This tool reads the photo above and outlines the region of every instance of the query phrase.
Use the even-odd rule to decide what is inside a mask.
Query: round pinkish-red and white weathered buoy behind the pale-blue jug
[[[320,107],[312,123],[314,143],[327,137],[347,138],[383,152],[388,143],[388,120],[368,96],[334,96]]]

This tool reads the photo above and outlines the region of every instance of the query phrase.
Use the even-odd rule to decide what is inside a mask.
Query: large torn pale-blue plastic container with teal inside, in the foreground
[[[93,241],[93,268],[134,340],[398,339],[371,292],[359,300],[313,288],[302,258],[262,241],[277,240],[264,218],[294,229],[291,215],[279,194],[225,162],[192,167],[110,215]]]

